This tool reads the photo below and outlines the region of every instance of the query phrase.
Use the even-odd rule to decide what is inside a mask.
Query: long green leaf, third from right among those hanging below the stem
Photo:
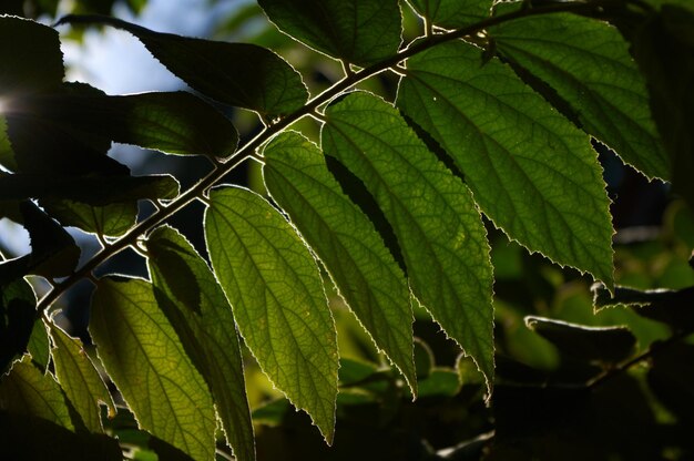
[[[353,93],[330,105],[326,119],[325,153],[376,198],[397,236],[414,294],[491,386],[492,269],[470,191],[382,100]]]

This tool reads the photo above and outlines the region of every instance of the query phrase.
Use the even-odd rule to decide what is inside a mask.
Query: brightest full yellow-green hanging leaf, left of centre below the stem
[[[316,262],[261,196],[225,187],[210,198],[207,249],[241,334],[263,371],[331,443],[337,338]]]

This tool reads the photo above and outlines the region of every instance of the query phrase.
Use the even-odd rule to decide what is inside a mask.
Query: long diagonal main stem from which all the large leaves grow
[[[418,41],[414,44],[410,44],[405,50],[395,54],[394,57],[386,59],[377,64],[372,64],[368,68],[361,69],[358,72],[350,72],[340,81],[333,84],[330,88],[325,90],[323,93],[312,99],[304,105],[302,109],[295,111],[294,113],[287,115],[286,117],[277,121],[274,124],[266,124],[265,129],[258,133],[254,139],[248,141],[243,147],[232,154],[229,157],[222,160],[218,162],[215,170],[210,172],[206,176],[204,176],[197,184],[193,185],[191,188],[185,191],[178,197],[173,199],[169,206],[164,208],[159,208],[154,214],[137,223],[133,228],[131,228],[125,235],[123,235],[118,240],[113,242],[106,248],[103,248],[96,255],[94,255],[84,266],[75,270],[70,277],[68,277],[62,283],[55,285],[55,287],[49,291],[38,304],[38,310],[42,311],[51,306],[63,293],[65,293],[70,287],[75,285],[79,280],[84,277],[89,277],[90,274],[98,268],[101,264],[103,264],[106,259],[127,248],[129,246],[135,245],[137,238],[141,235],[144,235],[147,230],[153,229],[155,226],[162,224],[165,219],[183,209],[191,202],[203,197],[208,188],[214,186],[222,177],[224,177],[228,172],[233,171],[238,164],[245,161],[248,157],[255,155],[255,151],[262,146],[265,142],[267,142],[275,134],[279,133],[285,127],[289,126],[294,122],[299,119],[303,119],[306,115],[315,114],[316,110],[330,102],[333,99],[338,96],[344,91],[354,86],[356,83],[366,80],[372,75],[376,75],[389,68],[396,66],[400,62],[406,59],[420,53],[431,47],[437,44],[441,44],[445,42],[449,42],[452,40],[460,39],[466,35],[470,35],[480,30],[487,29],[492,25],[501,24],[503,22],[512,21],[520,18],[531,17],[531,16],[541,16],[541,14],[550,14],[555,12],[595,12],[601,6],[611,4],[614,0],[604,0],[604,1],[593,1],[590,3],[585,3],[582,1],[575,2],[561,2],[553,3],[549,6],[543,6],[539,8],[533,8],[529,10],[519,10],[516,12],[511,12],[508,14],[502,14],[499,17],[488,18],[483,21],[480,21],[476,24],[468,25],[466,28],[441,33],[433,34],[428,37],[425,40]],[[104,22],[103,18],[98,18],[99,21]],[[73,18],[70,20],[64,18],[61,21],[58,21],[57,24],[63,22],[89,22],[89,18]],[[116,23],[118,20],[109,20],[106,23]],[[118,27],[118,25],[116,25]],[[349,66],[347,66],[349,69]],[[264,120],[264,122],[267,122]],[[241,158],[241,160],[239,160]]]

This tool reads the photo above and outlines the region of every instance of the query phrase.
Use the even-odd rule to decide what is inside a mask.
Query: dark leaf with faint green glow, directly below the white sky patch
[[[236,148],[238,134],[231,121],[191,93],[106,96],[80,89],[25,99],[22,110],[30,107],[76,136],[102,136],[171,154],[227,156]]]

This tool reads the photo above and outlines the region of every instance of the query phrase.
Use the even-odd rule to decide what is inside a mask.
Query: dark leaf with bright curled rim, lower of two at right
[[[586,327],[543,317],[525,317],[525,325],[560,352],[585,361],[618,363],[634,352],[636,338],[625,327]]]

